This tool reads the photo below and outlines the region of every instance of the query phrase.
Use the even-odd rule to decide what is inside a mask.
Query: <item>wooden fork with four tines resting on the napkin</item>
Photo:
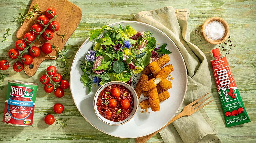
[[[189,105],[185,106],[184,109],[182,110],[181,113],[179,113],[177,116],[173,117],[171,119],[170,122],[168,122],[165,126],[163,126],[161,129],[165,128],[166,126],[168,126],[169,124],[171,124],[173,121],[179,119],[180,117],[183,117],[183,116],[190,116],[192,115],[193,113],[195,113],[196,111],[198,111],[199,109],[203,108],[204,106],[208,105],[209,103],[211,103],[213,100],[205,103],[204,105],[200,106],[202,103],[204,103],[206,100],[208,100],[209,98],[211,98],[212,96],[204,99],[203,101],[197,103],[196,105],[194,105],[196,102],[200,101],[201,99],[203,99],[206,95],[208,95],[209,93],[205,94],[204,96],[198,98],[197,100],[193,101],[192,103],[190,103]],[[194,105],[194,106],[192,106]],[[200,107],[198,107],[200,106]],[[197,108],[198,107],[198,108]],[[161,129],[159,129],[158,131],[152,133],[152,134],[149,134],[147,136],[143,136],[143,137],[138,137],[135,139],[135,141],[137,143],[144,143],[146,142],[147,140],[149,140],[152,136],[154,136],[155,134],[157,134],[159,131],[161,131]]]

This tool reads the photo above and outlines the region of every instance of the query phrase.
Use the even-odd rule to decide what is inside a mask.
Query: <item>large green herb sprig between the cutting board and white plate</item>
[[[68,45],[68,48],[65,49],[64,51],[61,51],[58,46],[57,46],[57,48],[58,48],[58,53],[55,56],[50,56],[49,54],[48,54],[48,56],[51,57],[51,58],[58,57],[58,62],[59,63],[57,63],[57,65],[60,68],[64,68],[64,73],[61,76],[62,76],[63,79],[65,79],[65,77],[68,78],[68,76],[67,76],[69,74],[68,73],[68,67],[70,67],[70,66],[67,65],[66,59],[69,59],[73,55],[73,53],[69,56],[66,56],[66,55],[63,54],[69,49],[69,45]]]

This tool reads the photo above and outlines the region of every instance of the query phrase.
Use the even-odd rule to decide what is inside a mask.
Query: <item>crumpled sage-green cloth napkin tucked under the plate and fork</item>
[[[211,91],[211,76],[207,59],[203,52],[190,43],[188,29],[188,9],[164,7],[151,11],[141,11],[134,16],[139,22],[150,24],[168,35],[179,48],[187,67],[188,88],[184,102],[178,111]],[[165,143],[217,143],[222,142],[217,130],[204,109],[182,117],[160,131]]]

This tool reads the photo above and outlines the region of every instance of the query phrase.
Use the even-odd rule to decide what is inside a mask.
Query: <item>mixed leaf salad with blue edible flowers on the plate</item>
[[[101,29],[91,30],[92,40],[96,44],[80,63],[83,70],[80,81],[89,88],[89,93],[93,83],[103,85],[109,81],[123,81],[131,84],[133,74],[156,61],[159,54],[171,53],[165,48],[167,44],[156,47],[151,32],[137,32],[129,25],[119,25],[119,28],[104,25]]]

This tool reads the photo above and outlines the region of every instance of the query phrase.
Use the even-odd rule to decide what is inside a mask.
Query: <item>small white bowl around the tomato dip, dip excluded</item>
[[[108,120],[106,118],[104,118],[100,113],[99,111],[97,110],[97,100],[98,100],[98,96],[100,94],[100,92],[106,88],[107,86],[109,85],[112,85],[112,84],[119,84],[119,85],[122,85],[124,87],[126,87],[128,90],[130,90],[132,96],[133,96],[133,99],[134,99],[134,107],[130,113],[130,115],[123,121],[119,121],[119,122],[114,122],[114,121],[111,121],[111,120]],[[136,114],[137,110],[138,110],[138,107],[139,107],[139,99],[138,99],[138,96],[134,90],[134,88],[132,88],[129,84],[125,83],[125,82],[121,82],[121,81],[111,81],[111,82],[108,82],[108,83],[105,83],[103,84],[98,90],[97,92],[95,93],[95,96],[94,96],[94,99],[93,99],[93,107],[94,107],[94,111],[97,115],[97,117],[104,123],[106,124],[109,124],[109,125],[122,125],[122,124],[125,124],[127,123],[128,121],[130,121],[134,115]]]

